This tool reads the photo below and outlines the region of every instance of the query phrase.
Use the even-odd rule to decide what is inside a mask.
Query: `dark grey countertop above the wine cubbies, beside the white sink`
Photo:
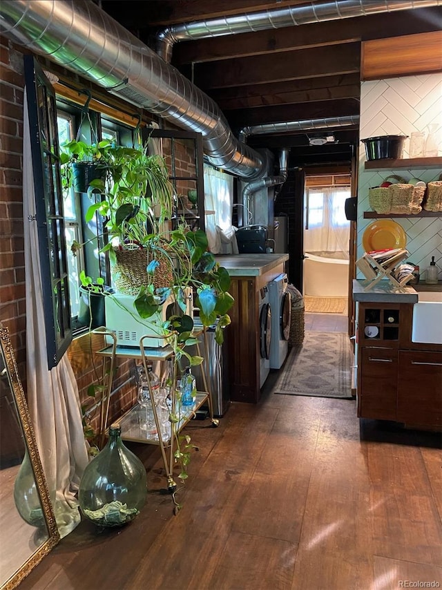
[[[417,303],[418,292],[422,291],[442,291],[442,282],[437,285],[427,285],[418,283],[409,287],[396,288],[390,281],[381,280],[369,291],[364,291],[364,287],[369,283],[367,280],[353,280],[353,299],[354,301],[377,301],[378,303]]]

